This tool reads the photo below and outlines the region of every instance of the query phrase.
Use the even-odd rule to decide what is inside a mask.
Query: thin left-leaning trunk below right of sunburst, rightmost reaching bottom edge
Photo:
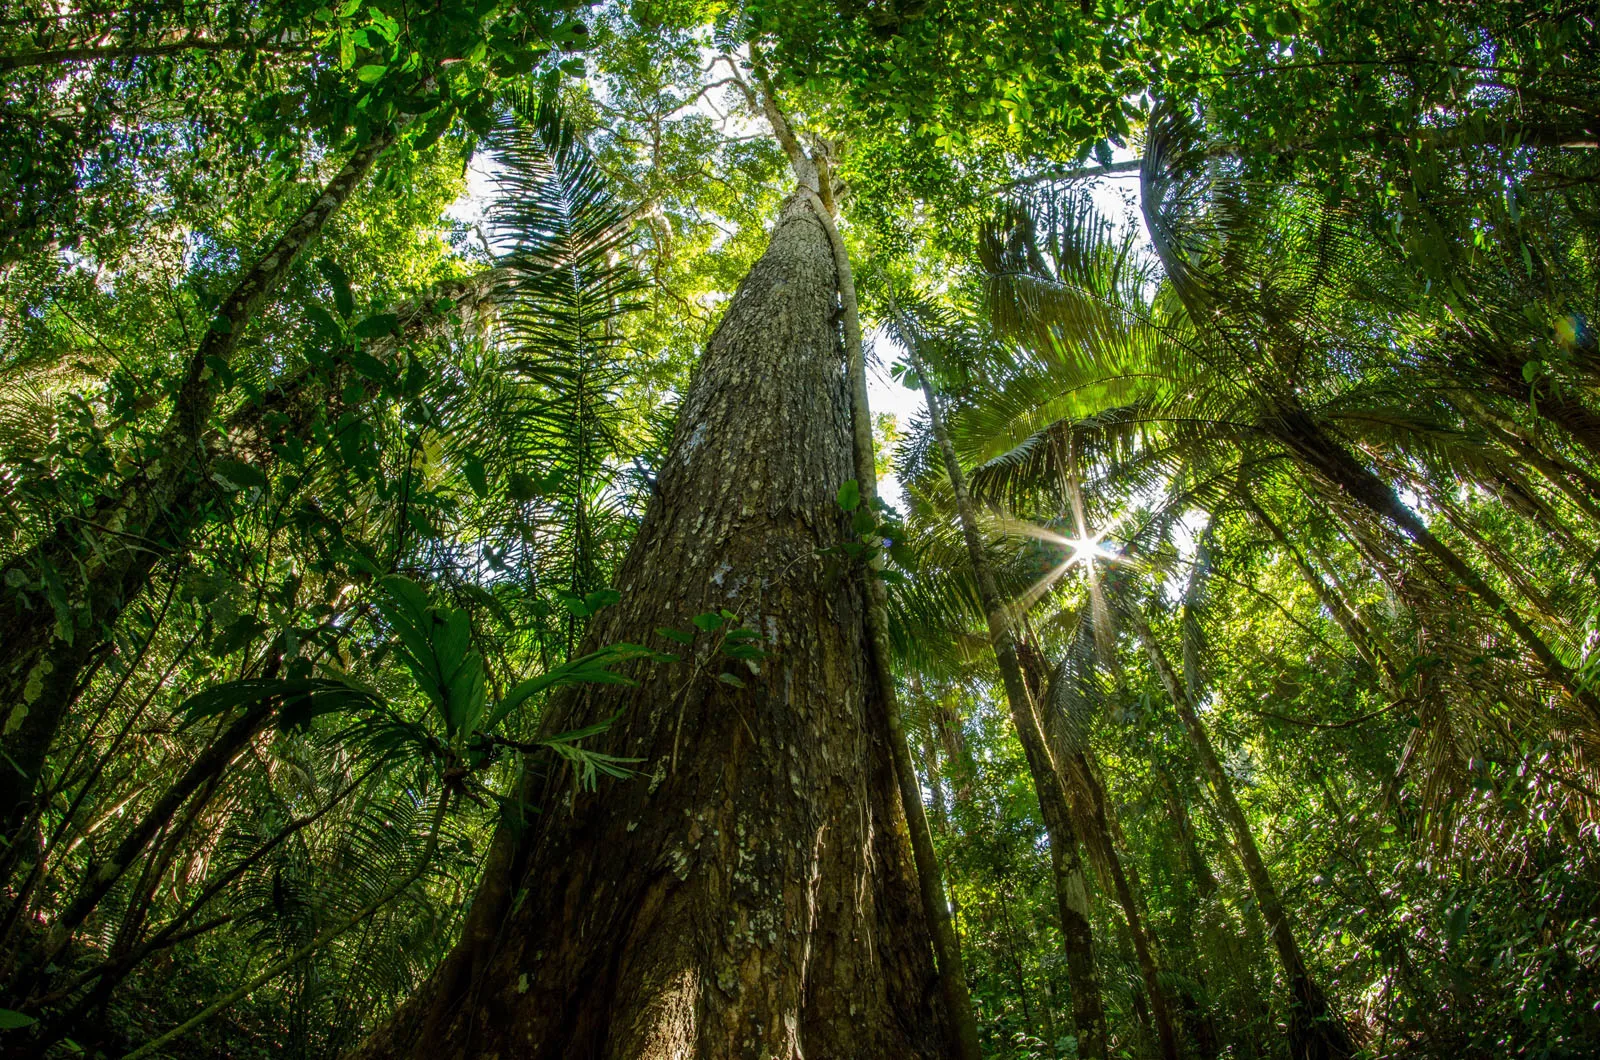
[[[1205,725],[1200,724],[1194,701],[1190,701],[1189,692],[1166,658],[1166,652],[1162,650],[1160,642],[1155,639],[1150,623],[1138,612],[1131,612],[1130,618],[1139,644],[1144,647],[1146,655],[1149,655],[1150,665],[1162,681],[1162,687],[1166,689],[1166,695],[1171,698],[1173,708],[1178,711],[1178,717],[1189,733],[1189,743],[1200,761],[1200,772],[1211,786],[1218,810],[1222,813],[1227,829],[1234,833],[1234,845],[1238,850],[1240,861],[1245,865],[1245,876],[1250,879],[1250,890],[1256,898],[1256,908],[1261,909],[1261,917],[1267,922],[1272,943],[1278,951],[1278,961],[1283,962],[1283,977],[1290,988],[1290,1052],[1294,1060],[1344,1060],[1354,1055],[1349,1033],[1344,1028],[1344,1022],[1328,1006],[1328,998],[1312,980],[1306,967],[1306,959],[1301,956],[1299,942],[1294,938],[1288,913],[1285,913],[1283,903],[1278,900],[1278,890],[1272,884],[1272,876],[1261,858],[1261,850],[1256,847],[1256,837],[1250,831],[1245,810],[1238,805],[1238,797],[1234,794],[1234,783],[1216,757],[1211,737],[1206,733]]]

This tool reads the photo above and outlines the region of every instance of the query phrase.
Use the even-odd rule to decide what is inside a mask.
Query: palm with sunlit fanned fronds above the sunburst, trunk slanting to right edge
[[[1030,360],[1000,378],[994,402],[973,402],[987,444],[974,482],[1011,496],[1061,476],[1069,439],[1115,461],[1123,488],[1184,482],[1187,504],[1232,492],[1240,469],[1301,469],[1298,487],[1418,548],[1446,592],[1477,597],[1485,621],[1504,623],[1542,677],[1600,719],[1549,640],[1570,642],[1570,628],[1536,628],[1379,474],[1494,480],[1514,474],[1514,453],[1459,429],[1395,371],[1395,338],[1352,307],[1360,266],[1339,218],[1294,189],[1229,183],[1190,135],[1173,110],[1149,133],[1142,202],[1165,279],[1154,298],[1131,239],[1110,240],[1080,197],[1013,207],[986,234],[989,315]]]

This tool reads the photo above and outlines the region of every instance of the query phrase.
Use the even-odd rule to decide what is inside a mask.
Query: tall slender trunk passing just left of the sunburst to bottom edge
[[[1016,631],[1011,626],[1005,602],[1000,599],[1000,589],[995,584],[994,572],[989,568],[989,559],[984,556],[984,546],[978,536],[978,512],[973,508],[971,495],[966,492],[966,479],[955,456],[955,447],[950,445],[950,436],[944,428],[939,397],[934,394],[933,383],[922,367],[915,344],[910,344],[907,351],[912,359],[912,370],[922,383],[933,437],[944,458],[944,471],[950,479],[950,490],[955,495],[955,509],[962,520],[966,556],[973,565],[979,602],[989,621],[989,644],[995,653],[995,665],[1000,668],[1006,705],[1011,708],[1011,724],[1016,729],[1018,740],[1022,741],[1027,767],[1034,775],[1034,789],[1038,794],[1038,809],[1045,821],[1045,833],[1050,837],[1050,861],[1056,884],[1056,903],[1061,909],[1061,934],[1067,951],[1067,977],[1072,986],[1072,1017],[1078,1031],[1078,1055],[1104,1057],[1106,1009],[1101,1001],[1099,978],[1094,970],[1094,930],[1090,924],[1088,884],[1083,879],[1083,860],[1078,853],[1077,831],[1072,828],[1072,817],[1067,810],[1059,762],[1050,754],[1050,746],[1045,743],[1038,725],[1034,700],[1027,692],[1022,666],[1018,661]]]

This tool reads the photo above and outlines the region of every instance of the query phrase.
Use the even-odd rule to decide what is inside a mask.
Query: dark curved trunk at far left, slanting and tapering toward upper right
[[[218,365],[229,363],[267,295],[397,135],[374,133],[272,250],[243,272],[189,359],[171,416],[142,466],[0,572],[6,756],[0,769],[0,829],[8,841],[27,818],[45,756],[78,692],[83,668],[102,650],[107,629],[144,589],[155,564],[184,548],[203,517]]]

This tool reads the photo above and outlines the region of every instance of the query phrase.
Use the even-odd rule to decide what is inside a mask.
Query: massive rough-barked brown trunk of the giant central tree
[[[552,733],[621,711],[597,749],[643,775],[530,785],[542,812],[501,829],[461,946],[357,1055],[947,1055],[864,600],[816,556],[848,536],[835,495],[854,477],[835,287],[790,200],[589,634],[656,644],[726,608],[763,634],[762,673],[698,642],[637,689],[552,705]]]

